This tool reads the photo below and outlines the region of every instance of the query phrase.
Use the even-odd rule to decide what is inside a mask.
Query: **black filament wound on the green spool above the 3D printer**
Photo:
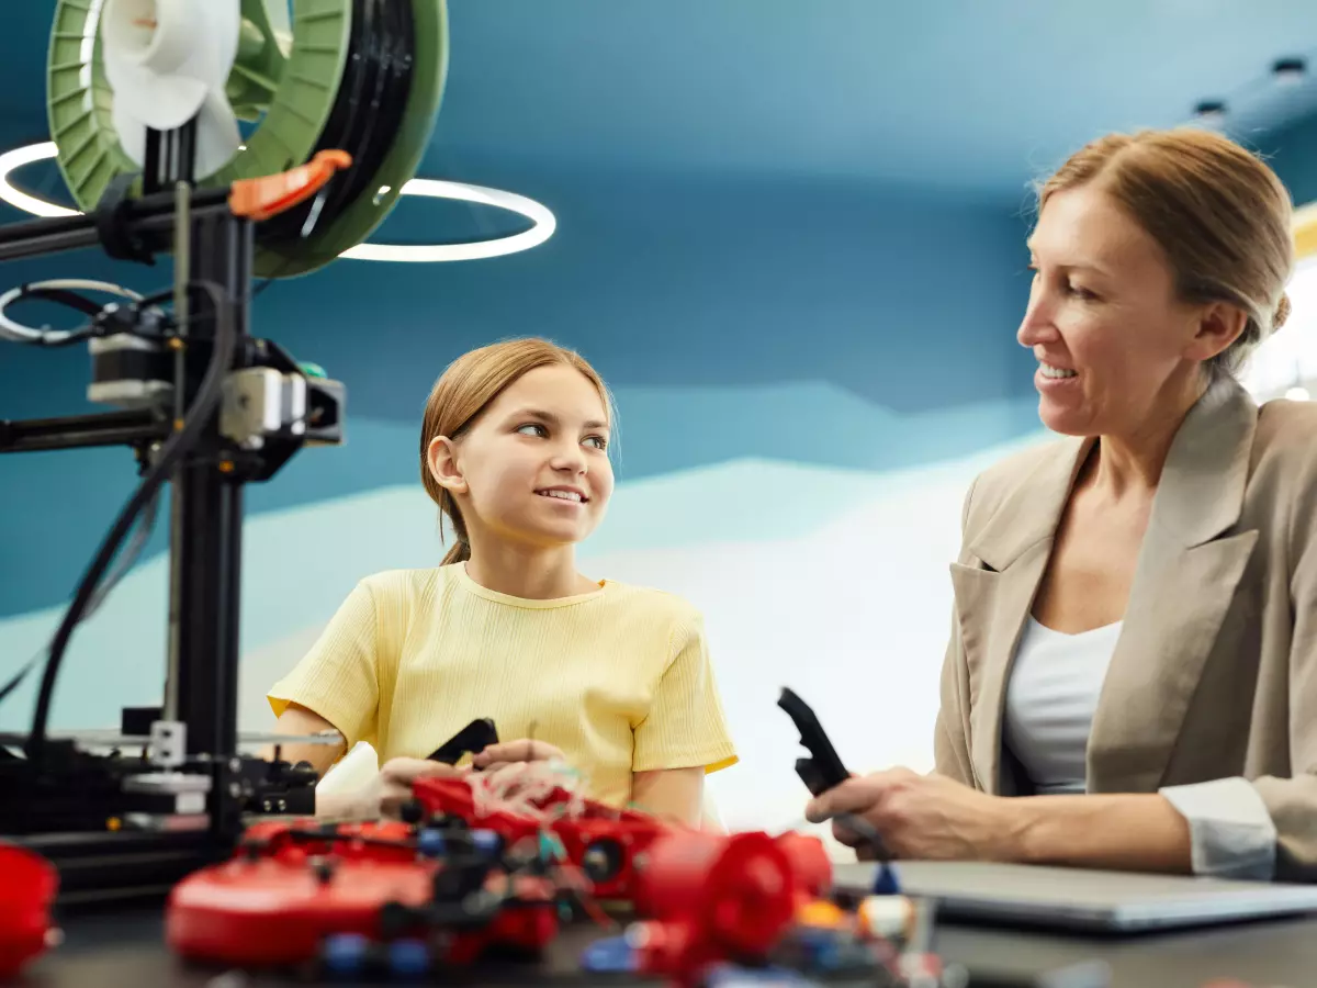
[[[261,223],[255,233],[259,244],[307,238],[373,192],[407,112],[415,49],[410,0],[353,0],[344,75],[311,154],[344,150],[352,155],[352,167],[332,178],[309,202]]]

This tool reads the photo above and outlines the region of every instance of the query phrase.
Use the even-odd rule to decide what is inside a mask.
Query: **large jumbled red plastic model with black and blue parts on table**
[[[533,810],[477,811],[464,779],[423,779],[414,793],[414,823],[253,826],[234,859],[175,887],[170,946],[287,967],[344,937],[371,950],[410,937],[425,964],[461,964],[490,947],[537,952],[565,902],[593,912],[593,900],[620,898],[652,918],[636,927],[641,970],[693,984],[719,960],[766,956],[831,884],[823,844],[799,834],[707,834],[564,790]],[[479,914],[471,892],[489,904]]]

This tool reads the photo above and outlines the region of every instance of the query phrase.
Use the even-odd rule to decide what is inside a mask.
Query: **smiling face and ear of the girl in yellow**
[[[585,539],[612,494],[608,415],[595,386],[566,365],[529,370],[457,440],[429,445],[471,544],[556,548]]]

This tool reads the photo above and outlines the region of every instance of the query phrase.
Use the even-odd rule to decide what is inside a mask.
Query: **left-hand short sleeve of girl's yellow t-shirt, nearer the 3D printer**
[[[342,732],[349,751],[361,740],[374,743],[379,713],[377,644],[374,594],[366,584],[357,584],[311,651],[270,689],[274,715],[298,703]]]

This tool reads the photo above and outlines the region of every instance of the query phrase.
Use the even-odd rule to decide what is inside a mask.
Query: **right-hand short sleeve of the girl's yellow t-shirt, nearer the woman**
[[[738,761],[709,659],[705,622],[695,614],[674,631],[676,657],[655,688],[649,713],[635,728],[631,769],[694,768],[716,772]]]

